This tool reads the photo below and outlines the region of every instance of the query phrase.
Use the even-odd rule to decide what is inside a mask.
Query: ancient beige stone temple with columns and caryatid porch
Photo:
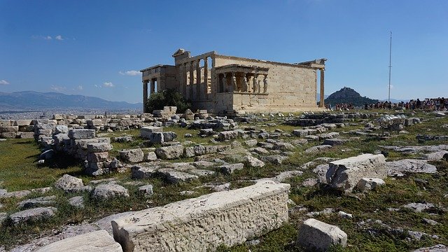
[[[323,109],[326,59],[291,64],[219,55],[216,51],[192,57],[183,49],[172,57],[174,66],[156,65],[141,70],[144,103],[148,91],[170,88],[190,100],[193,109],[216,114]]]

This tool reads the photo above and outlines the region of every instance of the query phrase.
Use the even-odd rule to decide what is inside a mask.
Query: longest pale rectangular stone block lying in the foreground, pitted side
[[[262,181],[131,212],[112,221],[113,237],[123,251],[209,251],[241,244],[288,221],[289,188]]]

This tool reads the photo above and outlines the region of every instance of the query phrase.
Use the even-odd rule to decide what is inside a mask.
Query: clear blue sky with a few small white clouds
[[[303,62],[327,58],[325,94],[448,96],[448,1],[0,0],[0,92],[141,102],[140,69],[178,48]],[[137,73],[137,75],[136,75]]]

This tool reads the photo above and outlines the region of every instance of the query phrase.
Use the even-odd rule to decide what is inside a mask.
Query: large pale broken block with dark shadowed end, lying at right
[[[350,193],[363,178],[384,179],[387,176],[384,155],[363,154],[330,162],[325,174],[332,188]]]

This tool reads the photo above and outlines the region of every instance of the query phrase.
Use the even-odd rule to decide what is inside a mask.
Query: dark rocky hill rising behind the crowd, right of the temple
[[[325,99],[325,104],[353,104],[354,106],[364,106],[364,104],[374,104],[377,99],[361,97],[361,95],[350,87],[343,87],[341,90],[330,94]]]

